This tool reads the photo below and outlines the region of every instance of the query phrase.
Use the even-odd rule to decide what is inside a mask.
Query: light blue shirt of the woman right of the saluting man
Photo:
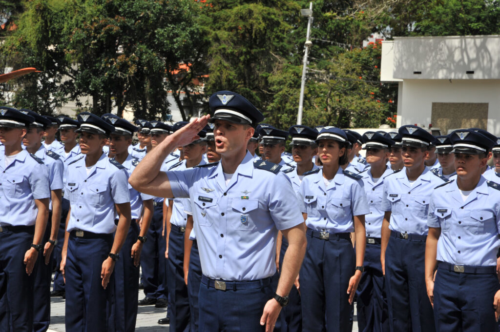
[[[358,177],[347,176],[338,167],[326,187],[322,169],[304,176],[300,198],[302,213],[307,214],[305,225],[320,232],[354,232],[352,217],[370,212],[361,176]]]

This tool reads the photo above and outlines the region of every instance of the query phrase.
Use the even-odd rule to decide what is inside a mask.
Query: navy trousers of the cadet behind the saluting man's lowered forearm
[[[279,271],[283,266],[283,257],[288,248],[288,241],[283,236],[281,240],[281,250],[279,252]],[[300,282],[300,280],[299,280]],[[291,287],[290,293],[288,294],[288,305],[283,307],[281,312],[284,316],[284,326],[283,332],[301,332],[302,331],[302,308],[300,306],[300,294],[297,291],[295,285]]]

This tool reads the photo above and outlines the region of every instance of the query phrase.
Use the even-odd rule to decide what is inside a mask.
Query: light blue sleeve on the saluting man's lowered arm
[[[268,187],[268,208],[276,228],[285,230],[303,223],[295,193],[286,175],[279,172]]]

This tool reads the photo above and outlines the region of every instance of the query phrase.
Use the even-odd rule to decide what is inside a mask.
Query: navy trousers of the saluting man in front
[[[203,280],[199,288],[199,332],[263,332],[260,317],[272,299],[271,284],[257,289],[219,291]],[[279,327],[274,332],[280,332]]]

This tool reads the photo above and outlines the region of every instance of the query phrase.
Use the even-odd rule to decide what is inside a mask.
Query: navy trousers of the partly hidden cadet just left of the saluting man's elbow
[[[137,300],[139,292],[139,267],[133,265],[130,257],[132,246],[137,242],[139,226],[135,220],[121,247],[120,258],[114,265],[114,325],[116,332],[135,331],[137,319]],[[142,254],[142,253],[141,253]]]

